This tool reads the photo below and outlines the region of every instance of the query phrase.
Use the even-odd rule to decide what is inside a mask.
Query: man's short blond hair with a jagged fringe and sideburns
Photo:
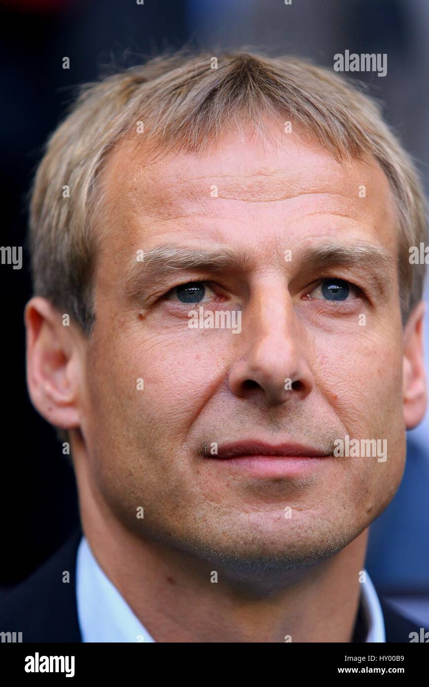
[[[137,122],[160,150],[180,146],[192,152],[220,140],[233,120],[239,126],[251,122],[263,133],[264,117],[274,115],[295,122],[338,161],[369,154],[384,170],[395,198],[405,322],[424,286],[425,266],[410,265],[408,249],[426,241],[426,207],[415,166],[378,104],[334,71],[305,60],[256,52],[219,54],[216,60],[209,53],[164,54],[82,87],[47,142],[32,188],[34,293],[90,335],[96,182],[112,146],[136,131]]]

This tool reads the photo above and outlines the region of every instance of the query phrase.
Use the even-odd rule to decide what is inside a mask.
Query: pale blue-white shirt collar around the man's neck
[[[386,642],[380,601],[365,573],[362,606],[368,627],[366,642]],[[78,548],[76,596],[82,642],[155,641],[97,563],[85,537]]]

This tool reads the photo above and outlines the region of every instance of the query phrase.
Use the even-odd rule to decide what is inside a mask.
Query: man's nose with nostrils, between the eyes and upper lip
[[[306,359],[308,341],[284,283],[280,289],[264,289],[248,304],[240,337],[235,342],[240,354],[229,373],[235,396],[278,405],[310,394],[314,376]]]

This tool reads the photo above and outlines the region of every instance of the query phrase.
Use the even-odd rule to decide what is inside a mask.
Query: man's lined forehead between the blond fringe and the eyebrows
[[[104,247],[155,245],[171,232],[231,243],[347,230],[395,252],[393,195],[375,159],[339,164],[308,137],[278,124],[270,134],[229,131],[204,153],[155,159],[141,137],[123,139],[102,172]]]

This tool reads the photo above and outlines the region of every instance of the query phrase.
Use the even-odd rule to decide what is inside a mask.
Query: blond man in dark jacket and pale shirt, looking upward
[[[375,104],[300,60],[156,58],[51,137],[30,238],[27,383],[84,536],[1,629],[410,642],[364,558],[426,408],[426,224]]]

